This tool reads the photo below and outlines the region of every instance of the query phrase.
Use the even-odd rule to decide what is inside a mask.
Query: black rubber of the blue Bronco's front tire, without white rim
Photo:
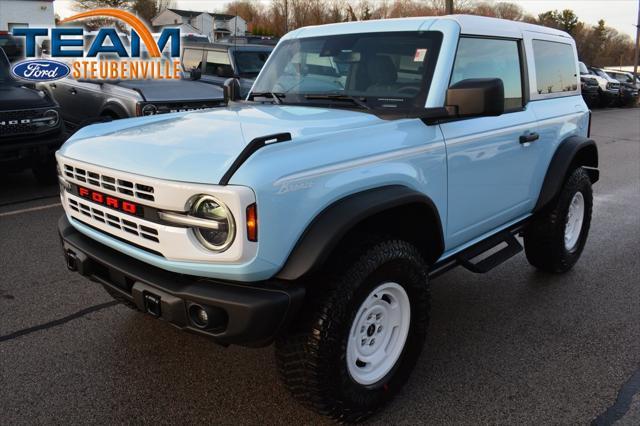
[[[328,275],[332,278],[316,283],[326,287],[310,297],[312,306],[304,309],[297,326],[276,340],[278,369],[291,394],[308,408],[337,421],[358,422],[393,398],[418,360],[429,322],[427,267],[411,244],[382,240]],[[363,386],[347,367],[348,336],[362,302],[385,282],[400,284],[409,297],[409,331],[389,373]]]

